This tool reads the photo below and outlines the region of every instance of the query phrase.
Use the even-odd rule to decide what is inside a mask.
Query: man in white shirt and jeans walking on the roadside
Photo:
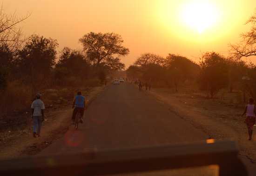
[[[36,135],[40,137],[40,131],[42,126],[42,121],[44,121],[44,102],[40,100],[41,94],[36,94],[36,100],[33,101],[31,105],[32,118],[33,118],[33,137]]]

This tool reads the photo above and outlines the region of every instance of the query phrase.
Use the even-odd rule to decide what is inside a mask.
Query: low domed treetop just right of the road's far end
[[[140,57],[137,58],[134,65],[143,67],[148,64],[158,64],[163,66],[165,63],[165,59],[161,56],[152,53],[144,53]]]

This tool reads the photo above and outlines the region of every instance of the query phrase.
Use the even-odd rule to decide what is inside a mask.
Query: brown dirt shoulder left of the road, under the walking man
[[[104,87],[95,87],[86,97],[90,104]],[[45,121],[42,125],[40,138],[32,137],[32,122],[30,127],[22,130],[6,131],[2,136],[11,135],[11,139],[0,145],[0,159],[9,159],[25,155],[35,155],[45,149],[54,140],[59,140],[71,126],[72,102],[58,108],[46,109]],[[32,121],[32,120],[31,120]]]

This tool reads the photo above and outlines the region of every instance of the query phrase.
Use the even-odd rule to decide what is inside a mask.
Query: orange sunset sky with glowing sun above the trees
[[[129,66],[144,52],[180,54],[196,62],[206,51],[228,56],[244,25],[256,12],[256,0],[3,0],[6,13],[29,19],[26,36],[57,39],[60,51],[81,49],[78,39],[94,32],[115,32],[124,39]],[[250,59],[250,58],[248,58]]]

